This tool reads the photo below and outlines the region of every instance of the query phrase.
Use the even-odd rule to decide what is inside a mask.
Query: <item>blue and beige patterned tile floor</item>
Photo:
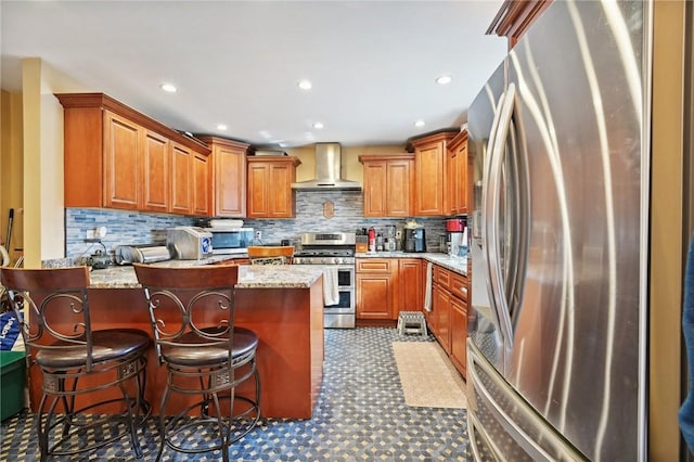
[[[398,335],[395,329],[325,331],[323,389],[310,420],[261,421],[230,450],[235,461],[471,461],[465,411],[411,408],[400,388],[391,342],[433,342]],[[2,422],[0,460],[38,460],[31,415]],[[156,428],[151,419],[142,441],[144,461],[155,460]],[[165,461],[221,460],[219,453],[195,459],[165,449]],[[128,439],[82,455],[93,461],[136,460]]]

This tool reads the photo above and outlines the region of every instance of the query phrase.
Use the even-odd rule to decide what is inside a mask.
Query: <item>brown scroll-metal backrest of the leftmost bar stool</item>
[[[0,280],[20,321],[27,361],[42,349],[86,350],[86,372],[91,372],[88,268],[2,268]]]

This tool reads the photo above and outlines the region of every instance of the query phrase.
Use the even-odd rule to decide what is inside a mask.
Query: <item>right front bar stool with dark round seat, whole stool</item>
[[[239,267],[136,265],[134,269],[144,287],[157,358],[167,370],[157,460],[168,446],[184,453],[219,450],[228,461],[229,447],[260,419],[258,337],[234,326]],[[252,377],[255,396],[240,396],[236,387]],[[168,418],[172,393],[200,398]],[[221,401],[228,405],[222,408]]]

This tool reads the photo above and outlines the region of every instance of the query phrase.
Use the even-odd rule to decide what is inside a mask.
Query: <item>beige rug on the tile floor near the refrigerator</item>
[[[465,383],[436,342],[394,342],[404,402],[417,408],[465,409]]]

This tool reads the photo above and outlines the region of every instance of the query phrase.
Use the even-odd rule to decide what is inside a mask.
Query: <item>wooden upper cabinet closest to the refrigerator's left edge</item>
[[[447,215],[467,214],[467,130],[448,144],[444,198]]]

